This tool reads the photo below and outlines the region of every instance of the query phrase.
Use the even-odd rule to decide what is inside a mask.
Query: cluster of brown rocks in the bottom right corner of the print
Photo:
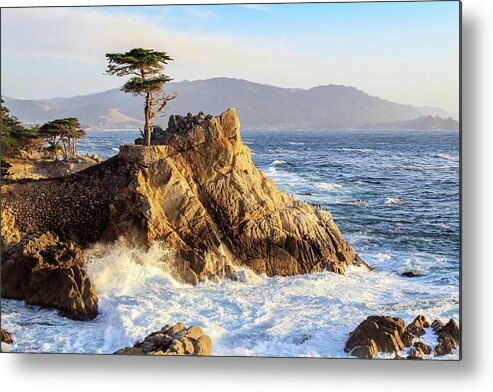
[[[370,316],[349,334],[344,351],[366,359],[379,353],[393,353],[396,359],[402,359],[403,355],[407,359],[423,359],[426,355],[452,354],[459,347],[460,333],[456,321],[451,319],[444,325],[435,320],[431,324],[438,335],[438,344],[433,351],[420,340],[429,327],[430,323],[423,315],[417,316],[407,327],[398,317]]]

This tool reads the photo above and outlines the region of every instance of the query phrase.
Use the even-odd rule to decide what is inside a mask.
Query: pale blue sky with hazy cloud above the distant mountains
[[[458,2],[2,9],[2,95],[51,98],[123,84],[107,52],[165,50],[175,80],[324,84],[459,110]]]

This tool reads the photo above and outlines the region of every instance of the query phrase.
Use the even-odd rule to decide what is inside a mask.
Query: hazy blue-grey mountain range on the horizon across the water
[[[438,108],[415,107],[372,97],[346,86],[288,89],[246,80],[213,78],[170,83],[179,97],[168,114],[219,114],[237,109],[246,129],[341,129],[368,124],[407,121],[420,116],[448,114]],[[91,128],[142,126],[143,98],[113,89],[71,98],[20,100],[4,97],[11,112],[24,123],[37,124],[74,116]],[[161,123],[166,123],[164,117]]]

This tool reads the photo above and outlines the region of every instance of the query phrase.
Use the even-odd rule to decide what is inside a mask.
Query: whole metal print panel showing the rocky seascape
[[[460,3],[3,8],[2,351],[460,359]]]

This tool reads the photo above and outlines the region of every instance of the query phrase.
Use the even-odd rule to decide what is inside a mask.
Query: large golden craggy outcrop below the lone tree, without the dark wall
[[[171,116],[153,143],[121,149],[121,159],[146,167],[115,198],[106,239],[130,232],[162,241],[192,283],[228,275],[232,265],[269,276],[367,267],[330,213],[280,192],[254,167],[234,109]]]

